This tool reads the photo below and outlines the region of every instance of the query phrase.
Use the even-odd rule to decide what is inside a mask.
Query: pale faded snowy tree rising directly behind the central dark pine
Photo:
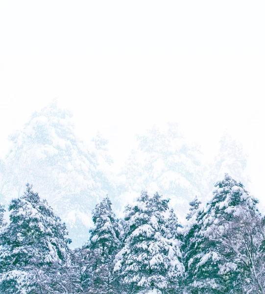
[[[121,199],[124,195],[136,199],[142,190],[159,191],[184,219],[191,196],[204,194],[206,189],[201,160],[200,148],[186,140],[176,124],[169,123],[166,131],[153,127],[138,136],[138,147],[123,168]]]

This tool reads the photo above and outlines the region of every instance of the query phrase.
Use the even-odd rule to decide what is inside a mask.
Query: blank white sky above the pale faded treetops
[[[0,156],[58,98],[117,166],[135,133],[178,121],[212,154],[224,131],[249,153],[265,203],[264,1],[0,1]]]

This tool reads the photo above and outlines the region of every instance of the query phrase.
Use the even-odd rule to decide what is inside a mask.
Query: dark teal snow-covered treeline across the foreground
[[[194,198],[185,224],[158,193],[142,192],[122,219],[106,197],[87,242],[71,250],[66,225],[27,184],[8,207],[8,223],[0,207],[0,293],[264,294],[257,203],[228,174],[206,207]]]

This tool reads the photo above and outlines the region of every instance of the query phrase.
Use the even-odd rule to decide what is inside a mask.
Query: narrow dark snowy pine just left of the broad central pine
[[[120,242],[118,220],[111,205],[110,199],[105,197],[92,212],[94,226],[90,230],[87,246],[92,257],[92,282],[88,292],[93,294],[115,293],[118,283],[113,274],[113,261],[118,253]]]

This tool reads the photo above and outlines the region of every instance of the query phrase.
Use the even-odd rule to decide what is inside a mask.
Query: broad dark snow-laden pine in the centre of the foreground
[[[172,282],[174,288],[178,286],[183,265],[176,254],[177,246],[164,237],[168,202],[158,193],[150,197],[142,192],[135,205],[126,208],[129,230],[115,266],[124,293],[174,293]]]

